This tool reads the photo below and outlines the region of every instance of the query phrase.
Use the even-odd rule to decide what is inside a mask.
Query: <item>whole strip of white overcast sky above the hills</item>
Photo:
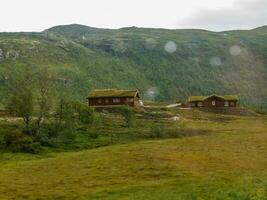
[[[0,0],[0,31],[42,31],[72,23],[251,29],[267,25],[267,0]]]

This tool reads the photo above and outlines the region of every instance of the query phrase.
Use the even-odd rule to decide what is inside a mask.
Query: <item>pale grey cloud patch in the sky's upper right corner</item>
[[[236,0],[224,8],[200,9],[178,25],[209,30],[250,29],[267,25],[267,0]]]

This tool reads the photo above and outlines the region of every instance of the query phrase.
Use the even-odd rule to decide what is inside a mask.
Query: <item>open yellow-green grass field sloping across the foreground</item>
[[[162,113],[181,114],[182,122],[157,123],[185,134],[143,137],[145,123],[156,118],[142,115],[131,137],[116,137],[105,147],[0,153],[0,199],[267,199],[266,117],[178,109]],[[126,128],[120,123],[112,114],[101,131],[123,135]]]

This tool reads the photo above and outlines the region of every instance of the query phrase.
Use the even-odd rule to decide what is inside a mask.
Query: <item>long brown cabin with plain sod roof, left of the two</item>
[[[140,106],[138,90],[97,89],[89,93],[89,106]]]

